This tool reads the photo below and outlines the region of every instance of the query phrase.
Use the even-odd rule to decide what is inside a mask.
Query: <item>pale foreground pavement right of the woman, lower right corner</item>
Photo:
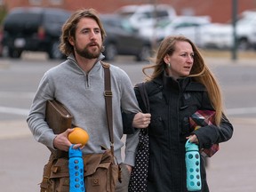
[[[231,140],[220,144],[211,158],[208,181],[211,192],[255,192],[256,119],[230,118],[234,125]]]

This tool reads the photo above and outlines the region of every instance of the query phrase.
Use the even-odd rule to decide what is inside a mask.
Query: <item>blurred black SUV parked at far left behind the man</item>
[[[47,52],[49,59],[62,59],[60,33],[70,12],[61,9],[15,8],[4,19],[3,44],[11,58],[23,51]]]

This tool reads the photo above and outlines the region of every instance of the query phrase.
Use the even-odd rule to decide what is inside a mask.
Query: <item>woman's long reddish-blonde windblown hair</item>
[[[158,51],[156,52],[156,58],[151,59],[154,64],[142,69],[144,75],[147,76],[146,81],[151,81],[163,74],[164,68],[166,68],[164,57],[167,54],[172,55],[172,53],[175,51],[175,44],[179,41],[188,42],[192,46],[194,52],[194,64],[189,76],[191,76],[194,81],[204,84],[208,92],[208,96],[212,102],[212,107],[216,111],[215,124],[219,125],[223,112],[220,85],[218,84],[211,70],[204,63],[204,59],[199,50],[196,48],[196,45],[185,36],[166,36],[164,38],[159,45]],[[150,76],[148,76],[146,73],[146,69],[149,68],[153,69],[153,73]]]

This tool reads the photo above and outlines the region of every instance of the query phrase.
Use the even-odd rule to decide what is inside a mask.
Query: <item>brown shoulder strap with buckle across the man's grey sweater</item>
[[[111,91],[111,81],[110,81],[110,65],[105,62],[101,62],[104,68],[104,81],[105,81],[105,91],[104,96],[106,100],[106,110],[107,110],[107,120],[108,120],[108,132],[110,140],[111,152],[114,155],[114,136],[113,136],[113,112],[112,112],[112,91]]]

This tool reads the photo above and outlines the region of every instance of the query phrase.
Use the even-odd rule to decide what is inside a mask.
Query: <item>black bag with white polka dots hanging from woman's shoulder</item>
[[[149,100],[144,83],[137,84],[141,99],[144,103],[147,113],[149,113]],[[149,161],[149,143],[148,128],[140,129],[139,144],[135,156],[135,165],[132,169],[131,179],[129,182],[129,192],[148,191],[148,161]]]

